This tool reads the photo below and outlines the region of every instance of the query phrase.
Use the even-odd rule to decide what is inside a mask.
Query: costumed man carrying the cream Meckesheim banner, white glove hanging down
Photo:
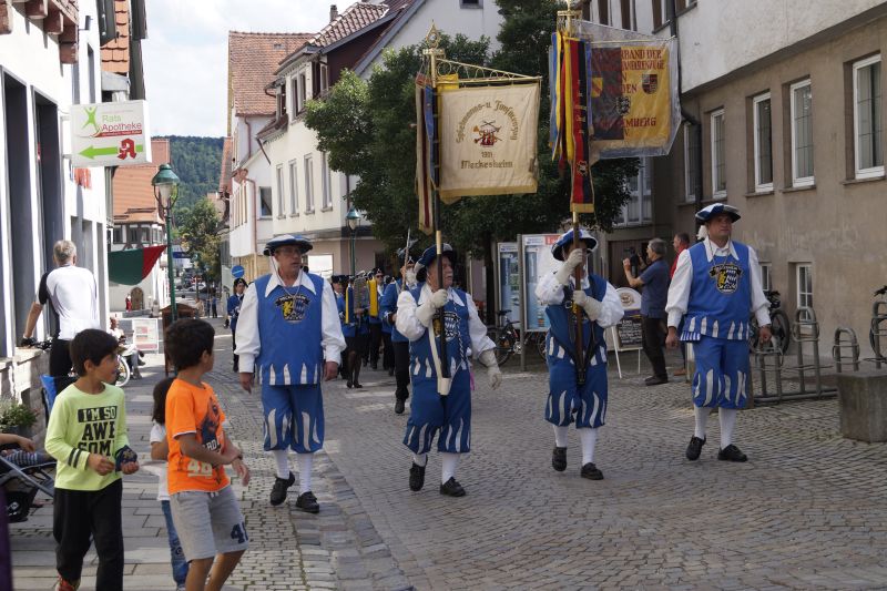
[[[422,253],[416,264],[419,285],[405,289],[397,300],[397,329],[410,340],[412,379],[412,404],[404,445],[412,451],[409,488],[420,490],[425,485],[428,450],[437,435],[442,461],[440,493],[463,497],[466,492],[456,480],[456,469],[459,456],[471,447],[471,363],[468,357],[473,351],[487,366],[487,378],[493,389],[501,384],[502,373],[475,302],[469,294],[452,287],[456,252],[445,244],[441,253],[437,256],[436,246]],[[443,269],[442,286],[438,284],[438,265]],[[440,308],[443,308],[446,327],[446,358],[440,356],[441,329],[437,316]],[[431,327],[434,329],[429,330]],[[449,378],[442,377],[443,363],[449,365]]]

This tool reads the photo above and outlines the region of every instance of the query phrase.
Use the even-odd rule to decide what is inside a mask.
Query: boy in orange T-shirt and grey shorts
[[[164,337],[179,370],[166,395],[167,481],[173,522],[191,564],[187,591],[221,590],[249,539],[224,466],[231,463],[244,486],[249,470],[222,429],[225,414],[213,388],[201,381],[213,369],[214,337],[210,324],[190,318],[174,323]]]

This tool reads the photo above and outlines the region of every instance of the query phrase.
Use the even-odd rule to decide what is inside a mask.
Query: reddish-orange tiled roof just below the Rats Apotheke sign
[[[159,222],[151,180],[170,162],[170,140],[151,140],[151,163],[120,166],[114,173],[114,222]]]

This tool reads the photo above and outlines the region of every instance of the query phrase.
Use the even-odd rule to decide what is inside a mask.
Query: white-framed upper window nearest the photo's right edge
[[[884,175],[880,101],[878,54],[853,64],[853,135],[857,179]]]

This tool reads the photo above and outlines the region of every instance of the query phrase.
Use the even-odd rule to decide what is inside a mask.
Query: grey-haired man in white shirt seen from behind
[[[99,286],[88,268],[77,266],[77,246],[59,241],[52,247],[57,268],[43,274],[24,323],[23,347],[34,345],[37,320],[49,304],[53,318],[52,348],[49,351],[50,376],[64,376],[71,370],[71,340],[84,328],[99,328]]]

